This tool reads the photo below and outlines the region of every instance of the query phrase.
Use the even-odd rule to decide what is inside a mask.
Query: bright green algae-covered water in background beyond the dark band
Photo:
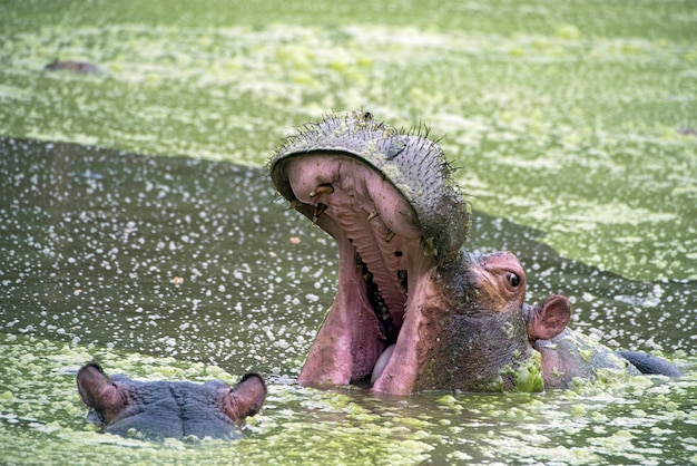
[[[363,107],[445,135],[474,207],[563,255],[697,279],[689,2],[337,8],[7,3],[0,134],[262,165],[294,125]],[[102,72],[45,71],[56,56]]]

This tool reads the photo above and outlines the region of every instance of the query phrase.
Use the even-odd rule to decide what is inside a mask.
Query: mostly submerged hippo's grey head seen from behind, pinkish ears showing
[[[80,398],[91,408],[88,419],[105,433],[153,441],[239,438],[236,423],[256,415],[266,398],[266,385],[257,373],[245,375],[235,387],[222,380],[136,381],[109,377],[92,361],[80,368],[77,384]]]

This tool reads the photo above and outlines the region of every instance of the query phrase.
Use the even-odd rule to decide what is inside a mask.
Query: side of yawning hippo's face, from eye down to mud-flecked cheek
[[[436,337],[439,344],[424,371],[439,382],[429,388],[543,390],[539,353],[528,342],[522,319],[527,279],[518,258],[497,252],[471,256],[463,264],[467,269],[455,274],[464,278],[465,304],[453,308]]]

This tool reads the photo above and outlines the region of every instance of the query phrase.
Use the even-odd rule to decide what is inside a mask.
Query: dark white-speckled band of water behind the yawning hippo
[[[1,331],[296,372],[336,252],[265,169],[7,138],[0,153]],[[529,301],[563,292],[611,347],[697,353],[697,283],[629,281],[474,219],[470,247],[517,253]]]

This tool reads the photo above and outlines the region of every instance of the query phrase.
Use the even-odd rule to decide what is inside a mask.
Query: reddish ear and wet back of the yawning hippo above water
[[[542,356],[547,388],[568,388],[577,378],[593,380],[600,369],[630,376],[681,375],[677,367],[662,358],[640,351],[612,351],[569,329],[571,304],[563,294],[552,294],[540,304],[524,304],[522,312],[530,343]]]

